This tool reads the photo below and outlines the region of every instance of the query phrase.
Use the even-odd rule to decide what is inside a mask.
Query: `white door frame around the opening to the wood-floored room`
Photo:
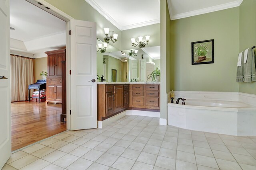
[[[70,31],[70,20],[74,19],[71,16],[69,16],[68,14],[62,12],[61,10],[59,10],[58,8],[52,6],[51,4],[49,4],[48,2],[44,1],[44,0],[26,0],[28,2],[30,2],[31,4],[34,4],[35,6],[37,6],[38,8],[41,8],[42,10],[49,12],[50,14],[56,16],[57,18],[60,18],[61,20],[66,21],[66,95],[67,95],[67,115],[66,115],[66,121],[67,121],[67,129],[70,130],[71,129],[71,115],[68,114],[71,108],[70,106],[70,74],[69,74],[69,70],[70,70],[70,35],[69,35],[69,31]],[[42,5],[38,4],[38,2],[40,2]],[[48,10],[47,8],[50,8],[50,10]]]

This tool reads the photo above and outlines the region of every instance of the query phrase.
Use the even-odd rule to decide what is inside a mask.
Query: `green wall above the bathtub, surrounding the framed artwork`
[[[172,80],[171,89],[238,92],[239,7],[172,20],[168,30],[166,58],[170,60],[167,76]],[[192,65],[191,42],[208,39],[214,39],[214,64]]]

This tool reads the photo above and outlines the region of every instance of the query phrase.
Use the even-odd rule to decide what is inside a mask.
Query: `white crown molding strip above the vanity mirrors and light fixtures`
[[[156,23],[160,23],[160,18],[156,20],[151,20],[151,21],[145,21],[141,23],[135,23],[132,25],[126,25],[126,26],[121,26],[116,20],[114,20],[110,15],[108,15],[107,12],[105,12],[94,0],[85,0],[92,8],[94,8],[96,11],[98,11],[104,18],[106,18],[108,21],[110,21],[114,26],[116,26],[120,31],[126,30],[126,29],[132,29],[132,28],[137,28],[137,27],[143,27],[147,25],[152,25]],[[160,3],[160,0],[158,0]]]

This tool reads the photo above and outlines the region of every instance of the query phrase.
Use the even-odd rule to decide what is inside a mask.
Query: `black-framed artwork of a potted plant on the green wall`
[[[191,43],[192,65],[214,63],[214,39]]]

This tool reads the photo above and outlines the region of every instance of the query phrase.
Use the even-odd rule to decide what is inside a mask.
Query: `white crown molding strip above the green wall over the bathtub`
[[[243,2],[243,0],[236,0],[234,2],[230,2],[230,3],[226,3],[226,4],[221,4],[221,5],[217,5],[217,6],[203,8],[203,9],[200,9],[200,10],[194,10],[194,11],[191,11],[191,12],[185,12],[185,13],[182,13],[182,14],[173,15],[172,10],[171,10],[172,5],[171,5],[170,0],[168,0],[168,8],[169,8],[171,20],[178,20],[178,19],[181,19],[181,18],[187,18],[187,17],[191,17],[191,16],[207,14],[207,13],[210,13],[210,12],[226,10],[228,8],[234,8],[234,7],[240,6],[240,4],[242,2]]]

